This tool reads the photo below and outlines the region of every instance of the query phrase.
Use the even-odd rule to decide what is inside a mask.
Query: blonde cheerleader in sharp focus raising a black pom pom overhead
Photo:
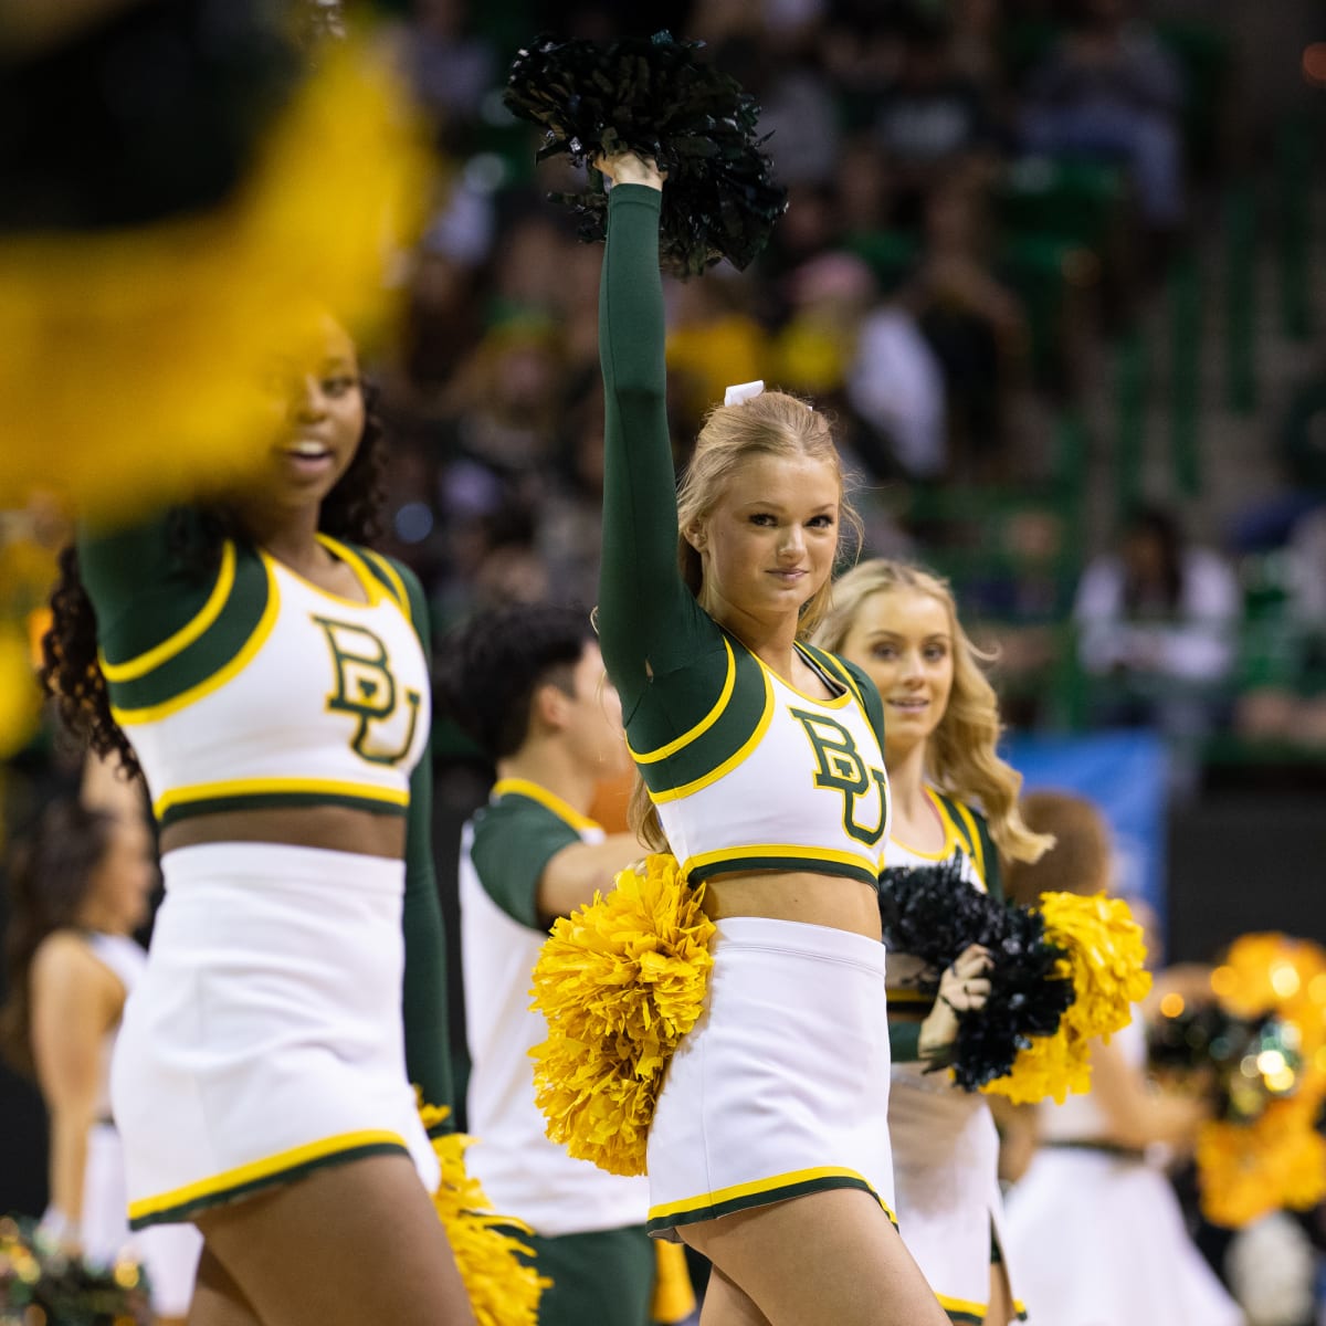
[[[705,1012],[648,1134],[650,1232],[713,1264],[707,1323],[934,1326],[892,1223],[879,699],[804,643],[849,520],[827,420],[729,391],[680,493],[663,366],[663,179],[631,152],[599,301],[598,627],[640,785],[633,825],[716,923]]]

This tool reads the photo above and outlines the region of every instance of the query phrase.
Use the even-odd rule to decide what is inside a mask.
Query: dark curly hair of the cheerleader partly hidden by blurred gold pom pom
[[[377,414],[377,391],[365,385],[365,420],[359,446],[346,472],[322,500],[318,529],[333,538],[371,545],[382,533],[386,438]],[[236,513],[223,503],[176,509],[170,544],[199,573],[220,564],[227,538],[245,538]],[[119,757],[125,777],[142,773],[138,756],[110,713],[106,679],[97,660],[97,613],[78,570],[78,550],[60,553],[60,579],[50,595],[52,623],[41,639],[41,684],[61,720],[98,756]]]

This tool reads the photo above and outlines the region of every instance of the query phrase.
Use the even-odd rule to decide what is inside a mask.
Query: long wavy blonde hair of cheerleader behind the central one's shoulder
[[[928,594],[944,605],[953,639],[953,688],[939,725],[926,748],[926,772],[940,792],[975,802],[989,823],[991,837],[1013,861],[1038,861],[1054,846],[1049,834],[1033,833],[1017,808],[1022,776],[996,752],[1002,727],[998,699],[983,664],[991,662],[957,619],[948,582],[922,566],[876,558],[862,562],[833,586],[833,603],[815,643],[841,654],[862,605],[875,594],[895,591]]]

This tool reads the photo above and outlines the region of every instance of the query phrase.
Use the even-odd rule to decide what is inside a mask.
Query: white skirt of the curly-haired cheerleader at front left
[[[131,1227],[381,1152],[436,1187],[404,1065],[403,863],[206,843],[162,869],[111,1065]]]

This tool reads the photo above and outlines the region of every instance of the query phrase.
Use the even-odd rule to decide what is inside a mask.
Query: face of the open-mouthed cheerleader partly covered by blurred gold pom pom
[[[261,504],[317,505],[350,468],[363,436],[354,342],[339,324],[321,318],[306,354],[272,365],[272,386],[278,423],[261,476]]]

